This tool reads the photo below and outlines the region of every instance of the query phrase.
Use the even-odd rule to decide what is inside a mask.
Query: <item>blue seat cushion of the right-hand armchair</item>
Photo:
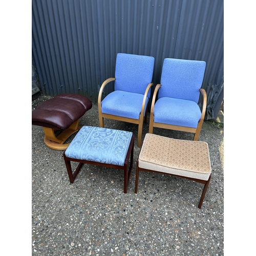
[[[157,123],[197,128],[202,116],[195,101],[162,97],[154,106],[154,121]]]

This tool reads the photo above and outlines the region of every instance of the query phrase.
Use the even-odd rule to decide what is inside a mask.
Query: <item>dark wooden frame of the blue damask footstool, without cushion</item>
[[[80,159],[74,159],[70,157],[66,157],[65,152],[63,153],[63,157],[66,163],[66,167],[68,170],[68,175],[69,175],[69,180],[70,183],[73,183],[77,174],[79,173],[82,165],[84,163],[86,164],[93,164],[93,165],[99,165],[99,166],[104,166],[104,167],[109,167],[109,168],[115,168],[115,169],[123,169],[124,170],[124,178],[123,178],[123,193],[127,193],[127,188],[128,188],[128,182],[129,178],[131,176],[132,168],[133,168],[133,156],[134,156],[134,138],[135,136],[132,136],[130,146],[127,151],[127,155],[124,160],[124,165],[115,165],[115,164],[106,164],[106,163],[99,163],[99,162],[94,162],[94,161],[88,161],[88,160],[80,160]],[[130,166],[128,166],[129,163],[129,158],[131,155],[131,160],[130,160]],[[73,173],[72,168],[71,168],[71,161],[73,162],[78,162],[79,164],[77,165],[75,172]]]

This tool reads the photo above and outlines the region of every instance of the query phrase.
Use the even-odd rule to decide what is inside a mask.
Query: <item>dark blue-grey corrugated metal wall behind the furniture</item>
[[[223,90],[223,0],[32,0],[32,58],[43,94],[96,102],[119,52],[206,61],[206,119]],[[105,89],[106,94],[114,84]]]

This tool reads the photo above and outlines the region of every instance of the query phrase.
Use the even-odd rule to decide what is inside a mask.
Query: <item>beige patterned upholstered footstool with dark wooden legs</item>
[[[136,194],[140,171],[169,174],[204,184],[198,205],[201,208],[211,178],[208,144],[147,133],[137,160]]]

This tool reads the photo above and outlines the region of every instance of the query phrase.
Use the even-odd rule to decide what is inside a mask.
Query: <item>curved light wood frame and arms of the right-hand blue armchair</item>
[[[158,83],[155,88],[154,94],[153,94],[151,111],[150,111],[150,128],[149,128],[148,133],[153,133],[153,127],[159,127],[159,128],[163,128],[163,129],[194,133],[195,135],[194,135],[193,140],[198,140],[201,129],[202,129],[203,121],[204,121],[205,111],[206,111],[207,94],[206,94],[205,90],[203,88],[199,89],[199,91],[203,95],[202,116],[198,122],[197,128],[191,128],[191,127],[186,127],[186,126],[157,123],[154,121],[154,106],[155,106],[155,102],[156,102],[157,93],[158,93],[158,90],[160,89],[160,87],[161,87],[161,84]]]

